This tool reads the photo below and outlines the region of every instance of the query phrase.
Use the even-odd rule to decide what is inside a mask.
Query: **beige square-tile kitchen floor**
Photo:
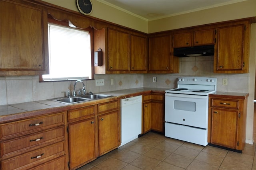
[[[237,153],[147,133],[78,170],[256,170],[255,145]]]

